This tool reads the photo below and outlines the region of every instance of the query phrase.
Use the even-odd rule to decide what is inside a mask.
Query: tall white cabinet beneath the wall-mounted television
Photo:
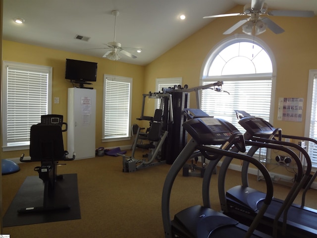
[[[95,157],[96,90],[68,88],[67,151],[76,159]]]

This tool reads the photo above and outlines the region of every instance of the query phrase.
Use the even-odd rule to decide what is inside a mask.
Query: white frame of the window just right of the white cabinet
[[[112,79],[113,81],[118,82],[128,82],[130,84],[130,92],[129,92],[129,112],[128,112],[128,126],[127,126],[127,134],[125,136],[109,136],[106,137],[106,80]],[[103,129],[102,129],[102,142],[109,142],[109,141],[121,141],[121,140],[130,140],[131,139],[131,114],[132,114],[132,86],[133,86],[133,78],[130,77],[123,77],[117,75],[110,75],[104,74],[104,86],[103,86]]]

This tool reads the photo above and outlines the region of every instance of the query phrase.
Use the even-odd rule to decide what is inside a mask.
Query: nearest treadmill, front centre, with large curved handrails
[[[192,136],[172,164],[163,185],[161,211],[165,238],[268,238],[256,230],[273,194],[273,182],[266,168],[251,156],[228,151],[232,146],[245,152],[243,134],[231,123],[223,119],[195,118],[183,123],[183,127]],[[215,147],[213,145],[219,145]],[[199,150],[205,158],[212,161],[206,168],[203,178],[204,205],[194,205],[170,218],[169,203],[173,182],[191,155]],[[212,172],[217,162],[229,156],[254,164],[263,174],[266,182],[264,205],[250,226],[245,226],[221,212],[211,209],[209,187]]]

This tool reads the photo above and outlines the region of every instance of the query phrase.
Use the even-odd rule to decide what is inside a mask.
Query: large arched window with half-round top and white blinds
[[[223,81],[222,92],[203,90],[201,109],[240,130],[234,110],[271,121],[274,71],[273,55],[260,39],[246,35],[227,38],[211,50],[202,69],[201,84]]]

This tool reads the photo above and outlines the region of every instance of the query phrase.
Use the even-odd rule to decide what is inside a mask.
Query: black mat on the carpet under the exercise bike
[[[81,219],[78,197],[77,174],[63,175],[57,180],[53,201],[48,205],[69,205],[69,209],[19,214],[17,211],[26,207],[43,206],[44,183],[38,176],[27,177],[13,198],[3,217],[3,227],[31,225]]]

